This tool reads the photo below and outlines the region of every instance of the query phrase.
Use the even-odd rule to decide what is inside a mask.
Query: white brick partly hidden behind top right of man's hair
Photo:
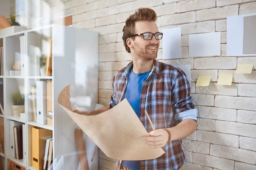
[[[176,4],[177,3],[171,3],[171,4],[156,6],[156,7],[153,7],[152,9],[157,13],[157,17],[160,17],[162,15],[175,14]]]

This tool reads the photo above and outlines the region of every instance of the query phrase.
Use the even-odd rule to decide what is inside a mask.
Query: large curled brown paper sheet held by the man
[[[58,103],[109,158],[148,160],[165,153],[162,148],[149,147],[141,139],[148,133],[127,99],[103,113],[81,115],[73,112],[68,85],[59,94]]]

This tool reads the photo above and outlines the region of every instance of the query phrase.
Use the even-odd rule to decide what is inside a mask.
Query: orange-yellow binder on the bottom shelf
[[[32,127],[32,167],[42,170],[46,139],[52,138],[52,131],[41,127]]]

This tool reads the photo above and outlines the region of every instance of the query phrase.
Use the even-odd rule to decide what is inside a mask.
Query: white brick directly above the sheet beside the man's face
[[[182,14],[164,15],[161,17],[160,25],[179,25],[184,23],[195,23],[195,11]]]

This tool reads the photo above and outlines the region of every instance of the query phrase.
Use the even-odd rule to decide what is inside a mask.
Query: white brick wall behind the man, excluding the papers
[[[63,3],[61,5],[61,3]],[[137,8],[157,13],[159,31],[181,27],[182,59],[191,65],[191,96],[198,108],[198,130],[183,140],[188,162],[181,170],[256,170],[256,56],[227,57],[227,17],[256,13],[256,0],[65,0],[55,11],[73,13],[73,26],[99,32],[98,102],[109,105],[113,76],[131,61],[122,29]],[[61,6],[61,8],[59,7]],[[62,7],[65,9],[62,10]],[[221,32],[221,56],[188,56],[189,34]],[[234,74],[231,86],[217,85],[219,72],[253,64],[252,74]],[[195,87],[198,76],[211,76],[208,87]],[[99,170],[116,170],[115,160],[99,152]]]

